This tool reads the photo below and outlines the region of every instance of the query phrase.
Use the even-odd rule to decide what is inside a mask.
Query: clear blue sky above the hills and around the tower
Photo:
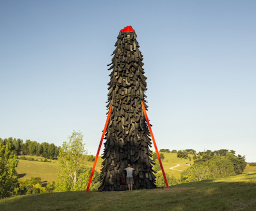
[[[255,0],[1,0],[0,137],[61,146],[80,130],[95,155],[106,65],[131,25],[158,149],[228,149],[256,162],[255,11]]]

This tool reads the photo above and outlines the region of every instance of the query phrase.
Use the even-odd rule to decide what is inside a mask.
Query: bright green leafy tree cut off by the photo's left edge
[[[18,187],[18,174],[15,170],[18,160],[10,148],[10,144],[0,142],[0,198],[14,195],[14,189]]]

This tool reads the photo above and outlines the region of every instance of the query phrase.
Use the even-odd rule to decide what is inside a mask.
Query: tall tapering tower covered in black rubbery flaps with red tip
[[[136,189],[156,187],[150,132],[142,110],[142,101],[146,102],[146,77],[136,36],[131,26],[122,29],[112,54],[107,105],[112,108],[105,134],[100,191],[124,189],[124,168],[128,164],[135,169]]]

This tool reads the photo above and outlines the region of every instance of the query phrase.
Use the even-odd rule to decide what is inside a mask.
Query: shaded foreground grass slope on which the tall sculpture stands
[[[256,210],[256,173],[167,188],[113,192],[64,192],[0,200],[1,211]]]

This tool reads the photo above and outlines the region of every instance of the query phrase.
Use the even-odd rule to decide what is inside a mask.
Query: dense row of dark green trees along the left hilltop
[[[10,146],[11,152],[15,155],[32,155],[32,156],[43,156],[44,158],[56,158],[60,147],[47,142],[38,143],[36,141],[26,140],[25,142],[20,138],[0,138],[0,142],[4,145]]]

